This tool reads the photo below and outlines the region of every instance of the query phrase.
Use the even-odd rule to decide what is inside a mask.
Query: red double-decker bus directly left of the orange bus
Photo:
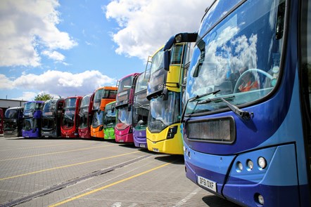
[[[80,138],[91,138],[91,120],[93,119],[93,100],[95,93],[84,95],[79,107],[79,127],[78,133]]]

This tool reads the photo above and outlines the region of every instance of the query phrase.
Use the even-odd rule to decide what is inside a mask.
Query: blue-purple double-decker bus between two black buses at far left
[[[44,101],[25,102],[23,112],[23,138],[41,137],[41,118]]]

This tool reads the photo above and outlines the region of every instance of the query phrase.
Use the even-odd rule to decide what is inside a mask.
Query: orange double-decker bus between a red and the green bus
[[[118,88],[115,86],[103,86],[97,88],[93,103],[93,121],[91,123],[91,137],[103,138],[103,116],[108,103],[115,101]]]

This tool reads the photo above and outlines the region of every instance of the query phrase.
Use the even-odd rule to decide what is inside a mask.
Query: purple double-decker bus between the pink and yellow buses
[[[149,101],[146,98],[148,73],[141,73],[136,81],[133,105],[133,139],[135,147],[147,148],[146,128]]]

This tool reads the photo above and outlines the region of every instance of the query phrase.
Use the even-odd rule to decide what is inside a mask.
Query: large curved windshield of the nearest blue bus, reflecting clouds
[[[187,76],[186,100],[220,91],[189,101],[186,114],[226,108],[217,97],[242,105],[272,91],[279,77],[282,34],[277,35],[276,28],[284,22],[284,6],[284,2],[246,1],[196,44]]]

